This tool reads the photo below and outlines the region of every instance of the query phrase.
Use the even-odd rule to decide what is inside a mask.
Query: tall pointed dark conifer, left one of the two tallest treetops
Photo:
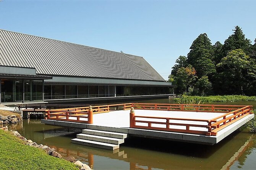
[[[212,62],[214,53],[210,39],[207,34],[200,34],[192,43],[188,53],[188,64],[191,64],[197,72],[198,77],[212,75],[216,72]]]

